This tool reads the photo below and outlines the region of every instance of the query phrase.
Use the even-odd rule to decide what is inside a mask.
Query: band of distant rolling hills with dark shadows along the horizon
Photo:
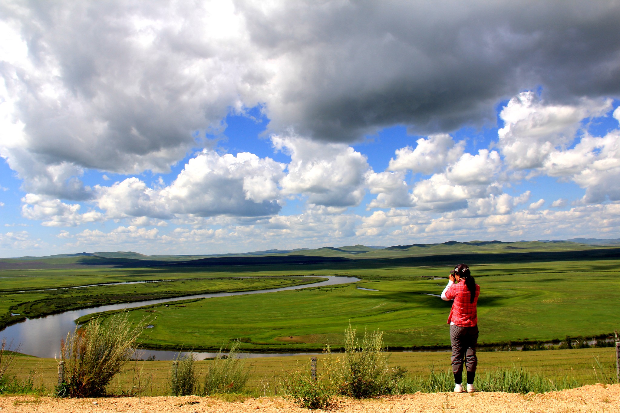
[[[294,250],[265,250],[242,254],[215,255],[144,255],[132,251],[115,251],[100,253],[57,254],[43,257],[25,256],[20,258],[0,259],[0,269],[37,269],[37,268],[73,268],[82,266],[112,267],[159,267],[159,266],[228,266],[228,265],[276,265],[300,264],[321,265],[339,262],[345,267],[364,266],[407,266],[433,265],[441,262],[437,256],[445,256],[445,261],[477,262],[484,255],[484,262],[500,262],[510,259],[542,259],[541,254],[554,253],[554,259],[565,259],[570,251],[578,251],[577,256],[586,254],[596,256],[598,253],[615,256],[618,245],[595,245],[572,241],[447,241],[440,244],[394,245],[386,248],[348,245],[335,248],[324,246],[314,250],[296,248]],[[603,241],[603,240],[601,240]],[[608,240],[609,241],[609,240]],[[597,252],[598,251],[598,252]],[[565,254],[562,254],[562,253]],[[567,253],[567,254],[566,254]],[[517,254],[517,255],[515,255]],[[310,259],[316,257],[317,259]],[[425,258],[426,257],[426,258]],[[435,258],[433,258],[435,257]],[[321,258],[321,259],[318,259]],[[342,258],[332,260],[328,258]],[[350,263],[349,261],[357,261]],[[348,264],[347,264],[348,263]]]

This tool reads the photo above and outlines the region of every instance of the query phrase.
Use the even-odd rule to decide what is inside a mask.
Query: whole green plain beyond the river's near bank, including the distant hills
[[[312,255],[317,253],[322,255]],[[197,257],[117,252],[0,260],[0,328],[25,316],[102,303],[268,289],[316,281],[291,276],[339,275],[361,281],[209,298],[184,307],[155,306],[148,309],[154,310],[154,328],[141,339],[146,346],[167,349],[218,349],[230,339],[241,339],[246,350],[316,350],[328,341],[340,346],[350,322],[384,330],[386,344],[393,348],[446,346],[449,303],[426,294],[440,293],[449,269],[459,262],[470,264],[482,287],[481,343],[595,336],[619,326],[609,316],[610,309],[620,304],[615,276],[619,248],[571,242],[449,241],[381,250],[356,245],[255,254],[193,259]],[[139,280],[164,281],[68,289]],[[50,288],[57,290],[45,291]],[[144,309],[133,314],[141,318]]]

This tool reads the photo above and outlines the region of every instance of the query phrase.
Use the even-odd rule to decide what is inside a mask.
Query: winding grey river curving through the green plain
[[[185,297],[162,298],[160,300],[136,301],[133,303],[119,303],[112,305],[102,305],[98,307],[84,308],[82,310],[65,311],[64,313],[48,315],[41,318],[32,318],[22,323],[13,324],[6,329],[0,331],[0,337],[6,337],[7,342],[13,342],[14,347],[20,345],[19,352],[24,354],[35,355],[37,357],[58,357],[60,340],[67,336],[69,331],[76,328],[74,320],[81,316],[100,313],[101,311],[120,310],[122,308],[135,308],[143,305],[151,305],[170,301],[187,300],[188,298],[212,298],[212,297],[228,297],[229,295],[247,295],[262,294],[267,292],[278,292],[286,290],[299,290],[309,287],[322,287],[324,285],[348,284],[360,281],[356,277],[343,276],[311,276],[313,278],[327,278],[325,281],[315,282],[312,284],[293,285],[291,287],[281,287],[277,289],[252,290],[239,292],[222,292],[210,294],[186,295]],[[158,360],[170,360],[174,358],[174,351],[165,350],[145,350],[144,359],[153,355]],[[198,357],[213,357],[213,353],[200,353]],[[248,357],[265,357],[267,354],[249,354]],[[288,355],[288,354],[273,354]]]

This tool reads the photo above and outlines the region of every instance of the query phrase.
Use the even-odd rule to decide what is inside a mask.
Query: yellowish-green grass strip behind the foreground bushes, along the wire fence
[[[338,356],[338,354],[335,354]],[[319,355],[319,368],[321,368]],[[284,372],[309,364],[309,356],[265,357],[249,359],[250,380],[246,389],[257,395],[273,395],[281,386],[278,378]],[[564,378],[578,380],[582,384],[601,383],[602,374],[613,375],[615,357],[613,349],[572,349],[551,351],[513,351],[513,352],[480,352],[478,354],[478,373],[484,374],[495,368],[523,367],[529,372],[538,373],[551,380]],[[598,363],[597,363],[598,360]],[[15,375],[17,380],[25,380],[31,375],[35,388],[43,386],[49,393],[58,380],[58,363],[54,359],[37,357],[17,357],[15,368],[9,376]],[[401,366],[408,370],[407,375],[427,378],[430,370],[446,372],[449,370],[450,357],[448,352],[394,352],[390,358],[392,366]],[[196,372],[202,382],[210,361],[196,362]],[[128,394],[136,392],[137,381],[133,367],[141,371],[142,394],[159,396],[170,394],[169,380],[172,362],[144,361],[128,363],[125,372],[115,376],[108,386],[110,394]],[[603,367],[601,372],[599,365]],[[596,370],[595,370],[596,368]],[[598,375],[598,376],[597,376]]]

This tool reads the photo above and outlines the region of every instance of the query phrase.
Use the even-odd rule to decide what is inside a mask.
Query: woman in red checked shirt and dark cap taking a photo
[[[469,272],[466,264],[458,264],[450,272],[448,285],[441,293],[441,299],[454,300],[448,324],[450,324],[450,342],[452,343],[452,372],[454,373],[454,393],[463,393],[461,376],[463,362],[467,368],[467,393],[474,393],[474,376],[476,376],[476,344],[478,341],[478,316],[476,305],[480,286]]]

